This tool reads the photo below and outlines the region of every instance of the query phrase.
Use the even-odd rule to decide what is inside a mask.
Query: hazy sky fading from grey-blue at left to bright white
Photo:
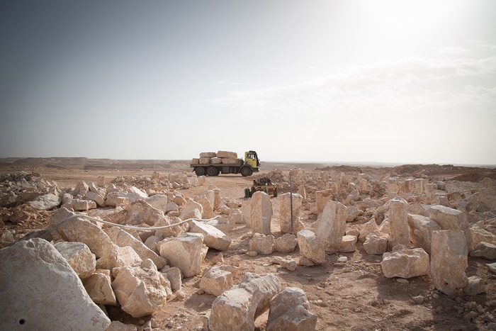
[[[0,1],[0,157],[496,164],[496,1]]]

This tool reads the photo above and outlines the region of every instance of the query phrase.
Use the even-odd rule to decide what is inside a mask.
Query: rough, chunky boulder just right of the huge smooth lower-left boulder
[[[166,303],[167,290],[157,269],[120,267],[112,282],[120,308],[133,318],[152,315]]]

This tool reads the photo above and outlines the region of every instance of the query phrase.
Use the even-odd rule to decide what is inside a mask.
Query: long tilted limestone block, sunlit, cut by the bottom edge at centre
[[[261,276],[248,272],[241,284],[215,299],[208,327],[212,331],[254,330],[255,319],[269,308],[279,291],[281,282],[273,274]]]

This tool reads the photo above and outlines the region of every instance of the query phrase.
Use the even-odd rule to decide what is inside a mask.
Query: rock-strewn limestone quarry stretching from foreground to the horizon
[[[0,330],[496,330],[495,169],[1,161]]]

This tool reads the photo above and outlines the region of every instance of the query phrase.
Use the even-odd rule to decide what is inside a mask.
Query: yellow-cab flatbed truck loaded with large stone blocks
[[[254,150],[244,152],[244,160],[237,158],[234,152],[206,152],[200,153],[199,159],[193,159],[191,168],[197,176],[217,176],[222,173],[246,177],[259,172],[260,159]]]

